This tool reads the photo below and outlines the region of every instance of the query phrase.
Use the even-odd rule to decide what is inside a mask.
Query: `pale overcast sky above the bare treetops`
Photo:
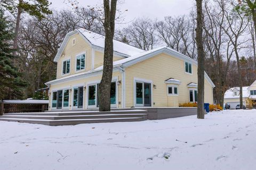
[[[71,5],[66,0],[49,0],[52,2],[51,7],[55,10],[61,8],[70,8]],[[100,5],[103,0],[77,0],[80,5]],[[195,0],[122,0],[124,3],[119,5],[125,12],[125,22],[132,21],[138,17],[148,17],[151,19],[162,20],[164,16],[177,16],[188,14]]]

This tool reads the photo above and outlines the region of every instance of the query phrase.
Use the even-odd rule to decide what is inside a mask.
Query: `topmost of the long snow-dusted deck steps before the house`
[[[74,115],[103,115],[103,114],[137,114],[137,113],[147,113],[147,111],[142,109],[134,110],[123,110],[123,111],[110,111],[110,112],[99,112],[99,111],[61,111],[61,112],[31,112],[31,113],[7,113],[5,116],[9,115],[27,115],[27,116],[74,116]]]

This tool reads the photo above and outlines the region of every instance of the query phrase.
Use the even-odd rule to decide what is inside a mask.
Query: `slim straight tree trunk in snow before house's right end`
[[[197,118],[204,118],[204,47],[203,47],[203,12],[202,0],[196,0],[197,8],[197,27],[196,27],[196,43],[197,43]]]

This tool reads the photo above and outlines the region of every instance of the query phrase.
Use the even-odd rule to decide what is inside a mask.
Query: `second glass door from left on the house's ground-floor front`
[[[75,87],[73,92],[73,108],[83,108],[84,87]]]

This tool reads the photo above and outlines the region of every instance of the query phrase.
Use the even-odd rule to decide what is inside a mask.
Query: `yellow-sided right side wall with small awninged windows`
[[[126,107],[134,106],[134,78],[153,81],[153,103],[155,107],[179,106],[181,103],[189,102],[189,90],[187,84],[197,83],[197,66],[192,64],[192,74],[185,73],[185,63],[176,57],[167,54],[159,54],[145,61],[131,65],[125,69],[125,98]],[[167,96],[166,79],[178,79],[181,84],[178,87],[178,97]],[[178,98],[178,99],[177,99]],[[212,87],[205,80],[205,102],[213,104]]]

